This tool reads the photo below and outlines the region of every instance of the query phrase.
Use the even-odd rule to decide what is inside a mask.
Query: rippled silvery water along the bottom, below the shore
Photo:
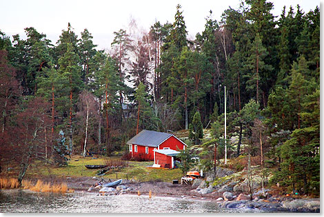
[[[153,208],[154,207],[154,208]],[[21,189],[0,190],[1,213],[210,213],[255,212],[249,209],[223,209],[210,201],[188,198],[137,196],[97,196],[97,193],[77,192],[50,194]]]

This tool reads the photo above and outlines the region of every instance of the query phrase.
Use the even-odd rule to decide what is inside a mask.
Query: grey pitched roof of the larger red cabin
[[[163,141],[165,141],[173,134],[167,134],[164,132],[156,132],[151,130],[142,130],[139,134],[131,138],[126,144],[131,145],[144,145],[149,147],[158,147]],[[174,136],[176,137],[176,136]],[[179,138],[177,138],[179,139]],[[179,139],[179,141],[181,141]],[[181,141],[183,143],[183,141]],[[183,143],[185,144],[185,143]]]

